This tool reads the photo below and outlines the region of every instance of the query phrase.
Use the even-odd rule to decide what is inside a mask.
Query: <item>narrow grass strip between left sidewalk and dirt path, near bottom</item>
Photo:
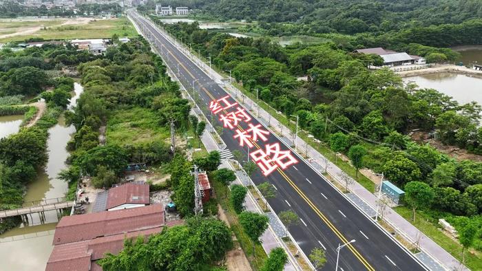
[[[216,191],[219,204],[223,210],[227,210],[225,214],[229,220],[229,224],[231,225],[231,230],[233,230],[234,235],[238,239],[242,250],[244,250],[244,253],[246,253],[251,267],[253,270],[260,270],[264,261],[266,261],[268,257],[266,252],[264,252],[261,243],[255,244],[255,250],[253,253],[253,243],[251,243],[251,239],[249,239],[248,235],[244,232],[244,230],[242,230],[242,227],[238,221],[238,215],[235,213],[231,204],[229,204],[229,195],[231,191],[229,191],[227,186],[220,184],[220,182],[213,181],[212,184],[214,191]],[[224,197],[224,195],[227,195],[227,197]]]

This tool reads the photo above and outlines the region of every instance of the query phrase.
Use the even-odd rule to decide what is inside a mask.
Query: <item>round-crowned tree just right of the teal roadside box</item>
[[[427,208],[433,199],[434,191],[428,184],[412,181],[405,185],[405,202],[412,208],[414,223],[417,209]]]

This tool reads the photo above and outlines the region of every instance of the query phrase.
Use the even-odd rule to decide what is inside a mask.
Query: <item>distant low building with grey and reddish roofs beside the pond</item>
[[[426,64],[425,58],[421,56],[410,56],[406,52],[395,52],[392,50],[385,50],[382,47],[358,49],[354,52],[360,54],[377,54],[384,58],[384,66],[399,66],[399,65],[422,65]]]

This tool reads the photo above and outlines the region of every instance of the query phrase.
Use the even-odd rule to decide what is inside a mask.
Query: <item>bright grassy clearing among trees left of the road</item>
[[[112,112],[107,121],[107,143],[123,145],[164,141],[169,129],[159,125],[156,113],[151,109],[132,107]]]

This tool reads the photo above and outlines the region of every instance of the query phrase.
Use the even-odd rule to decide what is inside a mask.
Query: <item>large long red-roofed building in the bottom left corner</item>
[[[165,223],[160,204],[62,217],[45,270],[101,270],[96,261],[106,253],[121,252],[126,238],[148,237],[176,224],[180,221]]]

